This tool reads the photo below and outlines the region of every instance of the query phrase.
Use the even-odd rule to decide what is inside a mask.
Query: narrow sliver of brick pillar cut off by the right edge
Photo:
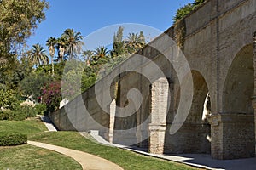
[[[254,92],[253,92],[253,109],[254,109],[254,125],[256,125],[256,31],[253,33],[253,67],[254,67]],[[256,126],[255,126],[255,141],[256,141]],[[256,143],[255,143],[256,150]]]

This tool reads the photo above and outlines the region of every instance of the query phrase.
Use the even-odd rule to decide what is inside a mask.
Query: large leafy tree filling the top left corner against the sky
[[[45,19],[45,0],[2,0],[0,3],[0,61],[8,63]]]

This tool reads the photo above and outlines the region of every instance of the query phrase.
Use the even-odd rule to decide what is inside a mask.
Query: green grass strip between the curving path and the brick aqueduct
[[[148,156],[141,156],[129,150],[121,150],[119,148],[97,144],[95,141],[85,139],[76,132],[37,133],[31,136],[30,140],[47,144],[55,144],[73,150],[81,150],[96,156],[101,156],[102,158],[118,164],[125,170],[195,169],[172,161],[163,161]]]

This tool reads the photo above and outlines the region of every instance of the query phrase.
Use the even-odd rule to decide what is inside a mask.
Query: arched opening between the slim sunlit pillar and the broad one
[[[113,143],[148,147],[149,84],[147,77],[137,72],[126,73],[116,88],[116,109],[113,123]],[[137,89],[142,100],[127,98]],[[137,102],[137,103],[136,103]]]

